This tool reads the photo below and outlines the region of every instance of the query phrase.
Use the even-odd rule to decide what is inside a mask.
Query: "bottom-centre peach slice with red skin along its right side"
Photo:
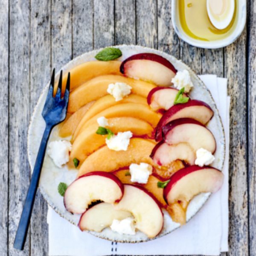
[[[127,210],[127,211],[131,212],[134,215],[134,218],[135,218],[135,221],[136,221],[136,227],[137,227],[138,230],[144,232],[148,236],[148,238],[153,238],[153,237],[157,236],[161,232],[161,230],[163,229],[163,212],[162,212],[162,209],[161,209],[157,199],[154,198],[154,196],[151,195],[151,193],[146,191],[141,186],[136,186],[136,185],[132,185],[132,184],[125,184],[124,187],[125,187],[124,196],[123,196],[122,200],[119,202],[119,204],[114,204],[114,209],[116,209],[116,210]],[[140,215],[140,213],[148,214],[148,211],[143,212],[143,209],[145,209],[145,208],[143,208],[143,209],[141,209],[141,212],[138,212],[137,209],[134,209],[134,207],[129,207],[129,204],[127,204],[127,203],[130,203],[130,202],[132,204],[133,201],[138,201],[136,206],[141,206],[140,199],[144,196],[144,194],[136,195],[137,193],[140,193],[137,189],[139,189],[140,191],[142,191],[146,195],[148,195],[154,201],[154,203],[153,203],[154,206],[159,209],[159,212],[158,211],[157,212],[158,212],[158,215],[160,213],[161,220],[155,219],[154,226],[157,225],[157,222],[159,222],[160,227],[157,228],[157,230],[153,230],[154,232],[151,229],[148,229],[148,223],[142,223],[143,222],[142,220],[143,219],[145,220],[145,218],[146,217],[148,218],[149,216],[145,216],[145,215],[142,216],[142,215]],[[146,198],[148,198],[148,197],[146,196]],[[143,203],[145,203],[145,199],[143,200]],[[151,212],[151,214],[152,214],[152,212]],[[157,216],[157,218],[160,217],[160,216]],[[150,216],[150,217],[154,218],[154,216]]]

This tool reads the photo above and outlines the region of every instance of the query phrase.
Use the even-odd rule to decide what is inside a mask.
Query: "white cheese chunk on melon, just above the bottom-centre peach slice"
[[[131,173],[131,182],[137,182],[146,184],[148,182],[149,175],[152,174],[152,166],[147,163],[132,163],[129,167]]]

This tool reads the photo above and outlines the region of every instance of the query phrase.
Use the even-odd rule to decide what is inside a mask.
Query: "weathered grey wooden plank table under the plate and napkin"
[[[228,79],[230,251],[223,256],[255,256],[255,0],[247,10],[247,26],[234,44],[206,50],[177,37],[170,0],[0,0],[0,256],[48,255],[47,203],[39,192],[25,250],[13,249],[13,242],[29,186],[29,120],[52,68],[118,44],[160,49],[197,74]]]

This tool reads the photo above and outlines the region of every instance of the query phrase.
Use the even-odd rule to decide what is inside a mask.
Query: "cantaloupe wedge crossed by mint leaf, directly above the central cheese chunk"
[[[126,116],[114,117],[108,119],[108,124],[107,128],[111,129],[115,134],[118,132],[131,131],[134,136],[154,138],[154,128],[140,119]],[[83,163],[88,155],[106,144],[105,139],[107,135],[102,136],[96,134],[98,128],[99,125],[95,123],[85,128],[84,131],[79,134],[74,141],[70,152],[71,163],[73,163],[74,158],[77,158],[80,161],[80,164]]]

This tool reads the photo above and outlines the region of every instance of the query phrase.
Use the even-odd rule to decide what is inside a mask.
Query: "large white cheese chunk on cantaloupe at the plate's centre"
[[[113,149],[115,151],[126,151],[131,137],[131,131],[119,132],[117,135],[113,135],[109,140],[106,138],[106,144],[109,149]]]

